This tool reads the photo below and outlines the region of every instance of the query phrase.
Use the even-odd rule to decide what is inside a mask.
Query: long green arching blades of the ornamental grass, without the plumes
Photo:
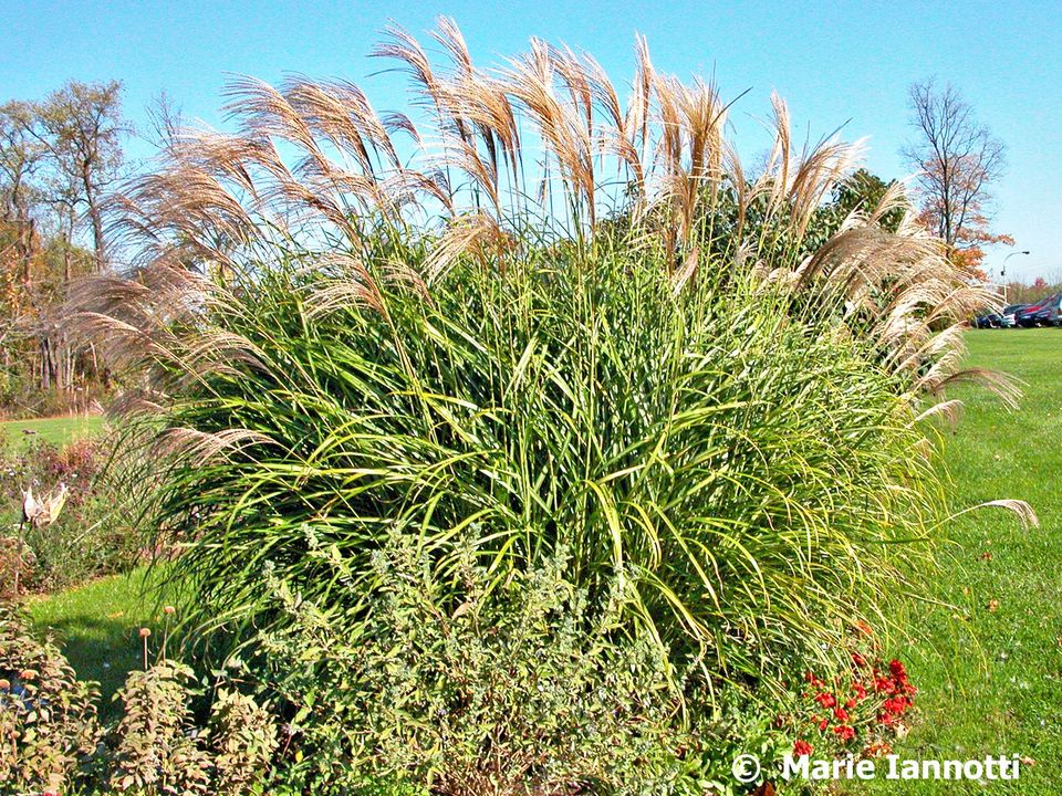
[[[332,551],[368,594],[394,532],[423,545],[450,610],[465,535],[498,584],[569,548],[574,583],[623,579],[633,635],[714,669],[770,671],[877,621],[915,549],[894,543],[935,517],[892,377],[769,296],[707,280],[676,296],[644,254],[521,268],[455,268],[430,302],[395,290],[384,316],[315,313],[343,275],[280,264],[218,311],[259,364],[201,376],[167,438],[242,441],[175,471],[162,517],[194,540],[176,564],[201,621],[268,626],[267,565],[347,603]]]

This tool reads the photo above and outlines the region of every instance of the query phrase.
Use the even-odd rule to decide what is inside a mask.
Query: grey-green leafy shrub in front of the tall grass
[[[374,620],[357,636],[274,579],[296,618],[269,647],[298,711],[289,781],[336,794],[377,777],[447,796],[666,788],[689,746],[673,726],[679,691],[657,650],[613,636],[618,600],[595,611],[566,566],[487,599],[490,575],[469,557],[467,601],[449,610],[396,540],[376,558]]]

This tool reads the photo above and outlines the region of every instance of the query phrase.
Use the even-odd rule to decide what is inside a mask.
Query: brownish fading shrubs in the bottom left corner
[[[261,793],[277,748],[268,706],[220,684],[209,727],[197,726],[191,669],[160,660],[129,674],[105,730],[94,684],[27,628],[0,604],[0,793]]]

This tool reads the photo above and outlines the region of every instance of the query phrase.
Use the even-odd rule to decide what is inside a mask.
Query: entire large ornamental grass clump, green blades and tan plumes
[[[856,149],[798,156],[777,98],[752,176],[715,90],[644,42],[624,104],[589,56],[534,41],[487,72],[436,38],[448,67],[402,31],[377,53],[412,116],[242,81],[236,133],[186,133],[114,202],[142,260],[72,310],[136,386],[183,616],[275,684],[299,627],[277,595],[351,643],[383,632],[398,538],[439,617],[475,591],[499,627],[562,558],[607,643],[654,651],[677,724],[844,671],[929,561],[919,418],[954,408],[987,296],[895,221],[898,190],[824,209]]]

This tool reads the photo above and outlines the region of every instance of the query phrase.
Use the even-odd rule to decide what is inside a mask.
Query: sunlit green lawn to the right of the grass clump
[[[905,651],[922,689],[919,716],[896,752],[910,758],[1020,754],[1018,783],[877,782],[873,793],[1058,794],[1062,783],[1062,331],[971,332],[968,365],[1025,381],[1017,411],[982,388],[955,396],[966,412],[947,434],[956,506],[1028,501],[1040,527],[1007,513],[968,514],[948,528],[936,597],[912,622]]]

